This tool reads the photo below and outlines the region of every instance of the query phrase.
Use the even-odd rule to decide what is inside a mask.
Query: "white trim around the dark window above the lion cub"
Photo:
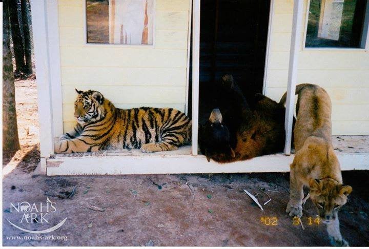
[[[366,43],[365,48],[335,48],[335,47],[327,47],[327,48],[306,48],[306,35],[308,34],[308,22],[309,22],[309,9],[310,9],[310,1],[308,0],[308,5],[306,5],[305,11],[305,26],[303,33],[303,43],[302,43],[302,51],[357,51],[357,52],[369,52],[369,28],[367,27],[368,19],[369,19],[369,2],[367,0],[366,3],[366,12],[365,12],[365,21],[364,26],[366,25]],[[365,28],[364,31],[365,32]]]

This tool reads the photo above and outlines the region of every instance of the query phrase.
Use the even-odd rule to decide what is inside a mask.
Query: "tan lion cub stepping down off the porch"
[[[295,158],[290,166],[286,213],[302,216],[302,188],[309,186],[332,245],[348,246],[339,230],[338,211],[352,188],[342,184],[340,164],[332,147],[331,99],[323,88],[312,84],[296,86],[296,94]]]

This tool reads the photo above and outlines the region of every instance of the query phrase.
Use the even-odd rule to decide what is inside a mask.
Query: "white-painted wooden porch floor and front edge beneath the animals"
[[[333,144],[342,170],[369,169],[369,136],[334,136]],[[192,156],[191,147],[184,146],[151,154],[139,150],[55,154],[46,162],[47,175],[243,173],[287,172],[293,157],[278,153],[219,164],[203,155]]]

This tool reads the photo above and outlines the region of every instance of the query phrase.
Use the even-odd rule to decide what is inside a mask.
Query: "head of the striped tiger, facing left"
[[[79,124],[95,122],[105,117],[104,96],[97,91],[79,91],[74,102],[74,117]]]

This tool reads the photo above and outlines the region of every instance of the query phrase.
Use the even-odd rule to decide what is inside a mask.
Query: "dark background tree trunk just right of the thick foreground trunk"
[[[22,34],[20,33],[18,22],[18,4],[16,0],[5,0],[5,6],[9,8],[10,27],[13,39],[14,57],[15,57],[15,73],[25,73],[26,65],[24,62],[24,47]]]

